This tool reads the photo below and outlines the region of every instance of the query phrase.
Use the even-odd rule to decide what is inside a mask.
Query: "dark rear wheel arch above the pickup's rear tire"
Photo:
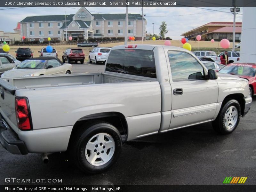
[[[79,127],[83,124],[92,123],[92,122],[108,122],[116,127],[116,129],[120,132],[122,140],[125,141],[128,138],[128,125],[126,119],[122,113],[119,112],[103,112],[103,113],[96,113],[87,116],[83,116],[76,121],[74,124],[69,141],[71,137],[75,135],[77,131],[79,131]]]

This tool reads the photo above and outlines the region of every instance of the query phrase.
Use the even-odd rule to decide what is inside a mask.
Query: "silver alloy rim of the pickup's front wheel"
[[[224,124],[227,129],[233,129],[236,125],[238,119],[237,108],[235,106],[230,106],[224,116]]]

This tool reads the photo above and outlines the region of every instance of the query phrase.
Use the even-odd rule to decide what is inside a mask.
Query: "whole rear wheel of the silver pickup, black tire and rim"
[[[100,142],[99,140],[100,136],[97,137],[97,135],[102,135],[102,134],[104,135],[102,137],[104,141],[102,143],[98,143]],[[106,143],[110,141],[106,136],[109,136],[109,135],[111,136],[112,139],[110,140],[112,140],[112,144],[114,145],[114,147],[112,147],[111,149],[106,148],[107,146]],[[95,138],[97,139],[94,140]],[[93,148],[92,148],[93,150],[86,149],[88,145],[92,144],[92,140],[94,140],[92,145],[94,149]],[[101,150],[105,150],[105,151],[101,151]],[[121,135],[116,129],[116,127],[114,127],[112,124],[109,124],[107,122],[94,122],[91,124],[82,125],[79,128],[79,131],[75,132],[74,135],[72,136],[70,140],[70,146],[69,146],[71,160],[75,162],[76,166],[79,169],[87,173],[100,173],[100,172],[106,171],[116,162],[117,158],[121,153],[121,150],[122,150]],[[111,156],[109,156],[108,161],[106,161],[105,163],[101,158],[103,156],[108,156],[107,153],[108,155],[111,154]],[[94,163],[89,162],[91,155],[92,157],[96,158],[96,159],[93,158],[92,160],[92,162]]]

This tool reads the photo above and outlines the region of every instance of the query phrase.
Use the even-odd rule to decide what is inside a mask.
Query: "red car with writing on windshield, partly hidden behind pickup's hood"
[[[238,75],[247,79],[251,96],[256,95],[256,63],[231,63],[220,69],[219,73]]]

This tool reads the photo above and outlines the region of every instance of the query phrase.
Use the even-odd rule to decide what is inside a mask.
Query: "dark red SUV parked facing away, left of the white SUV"
[[[81,64],[84,64],[84,52],[83,49],[66,49],[64,54],[62,55],[62,61],[65,63],[66,61],[70,63],[71,61],[80,61]]]

